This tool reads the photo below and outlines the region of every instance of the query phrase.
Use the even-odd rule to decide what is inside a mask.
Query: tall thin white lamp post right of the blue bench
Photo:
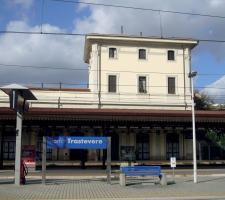
[[[196,131],[195,131],[195,106],[194,106],[194,77],[197,72],[193,71],[189,73],[191,79],[191,104],[192,104],[192,137],[193,137],[193,170],[194,170],[194,183],[197,183],[197,156],[196,156]]]

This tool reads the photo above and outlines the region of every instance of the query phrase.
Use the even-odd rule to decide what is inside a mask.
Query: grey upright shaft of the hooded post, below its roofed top
[[[22,146],[22,121],[23,116],[16,114],[16,152],[15,152],[15,184],[20,185],[21,175],[21,146]]]

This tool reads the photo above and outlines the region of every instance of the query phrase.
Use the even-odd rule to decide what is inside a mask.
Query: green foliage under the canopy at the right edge
[[[225,149],[225,133],[220,133],[218,130],[208,129],[206,137],[214,144],[222,149]]]

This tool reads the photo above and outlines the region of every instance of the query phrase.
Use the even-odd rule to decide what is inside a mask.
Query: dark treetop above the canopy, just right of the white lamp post
[[[199,91],[195,91],[194,100],[196,110],[211,110],[214,103],[207,94]]]

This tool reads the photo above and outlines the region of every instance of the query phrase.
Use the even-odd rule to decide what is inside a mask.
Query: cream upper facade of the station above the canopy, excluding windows
[[[84,61],[89,65],[90,91],[42,90],[32,92],[31,107],[190,110],[191,49],[195,40],[154,39],[123,35],[87,35]],[[109,58],[109,49],[116,57]],[[139,59],[139,49],[146,59]],[[167,53],[174,51],[174,60]],[[109,75],[116,76],[116,92],[108,91]],[[138,91],[138,77],[146,77],[146,93]],[[168,77],[175,78],[175,94],[168,94]],[[0,106],[8,97],[0,93]]]

